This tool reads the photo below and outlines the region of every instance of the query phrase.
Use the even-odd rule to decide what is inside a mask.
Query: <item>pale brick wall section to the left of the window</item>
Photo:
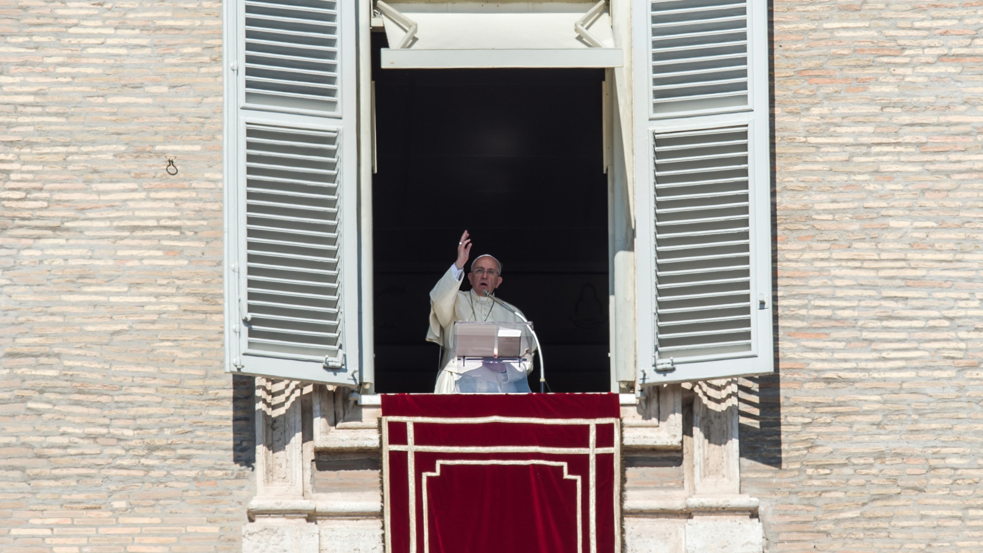
[[[0,0],[4,553],[239,550],[220,61],[219,2]]]

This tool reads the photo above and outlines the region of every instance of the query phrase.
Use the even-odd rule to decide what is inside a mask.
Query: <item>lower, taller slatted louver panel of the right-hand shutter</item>
[[[750,351],[747,127],[656,133],[655,208],[660,358]]]

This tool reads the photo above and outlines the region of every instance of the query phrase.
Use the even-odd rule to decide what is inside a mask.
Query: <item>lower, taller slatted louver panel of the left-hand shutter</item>
[[[247,353],[340,362],[338,146],[246,125]]]

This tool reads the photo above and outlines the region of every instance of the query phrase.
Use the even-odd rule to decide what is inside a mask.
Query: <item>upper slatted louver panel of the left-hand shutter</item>
[[[336,112],[337,3],[246,0],[245,7],[246,104]]]

